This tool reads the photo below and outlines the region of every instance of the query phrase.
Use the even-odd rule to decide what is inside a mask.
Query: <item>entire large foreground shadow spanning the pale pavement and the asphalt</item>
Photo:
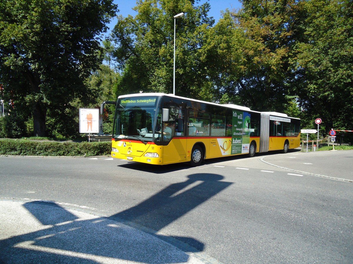
[[[0,240],[1,259],[5,263],[185,263],[188,254],[159,239],[166,240],[167,236],[153,233],[232,184],[222,179],[216,174],[189,175],[186,181],[170,184],[110,217],[83,219],[55,203],[27,202],[23,207],[39,221],[40,227],[24,226],[28,232]],[[121,219],[149,228],[152,235],[122,224]],[[28,220],[19,219],[24,225],[28,225]],[[174,239],[192,246],[188,251],[202,251],[205,246],[192,237]]]

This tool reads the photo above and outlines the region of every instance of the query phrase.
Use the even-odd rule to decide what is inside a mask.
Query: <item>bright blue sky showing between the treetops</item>
[[[226,8],[232,10],[233,8],[237,9],[241,7],[238,0],[200,0],[199,5],[207,1],[211,5],[211,10],[208,14],[210,17],[214,17],[216,23],[221,17],[221,11],[226,10]],[[114,0],[114,4],[118,4],[118,9],[120,10],[118,15],[122,15],[123,17],[127,17],[127,15],[135,16],[136,12],[132,10],[136,5],[135,0]],[[114,20],[110,23],[110,30],[113,29],[115,24],[116,22]]]

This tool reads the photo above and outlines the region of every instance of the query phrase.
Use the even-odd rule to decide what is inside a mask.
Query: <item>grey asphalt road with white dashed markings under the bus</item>
[[[191,168],[0,157],[0,200],[52,201],[125,220],[214,263],[353,263],[352,158],[294,151]]]

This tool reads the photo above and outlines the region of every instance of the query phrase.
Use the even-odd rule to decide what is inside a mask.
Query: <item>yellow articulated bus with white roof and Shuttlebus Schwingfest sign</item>
[[[163,93],[119,96],[112,157],[164,165],[300,145],[300,119]]]

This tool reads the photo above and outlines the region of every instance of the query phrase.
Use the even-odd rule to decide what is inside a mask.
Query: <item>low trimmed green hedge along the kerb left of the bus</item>
[[[111,142],[55,142],[25,139],[1,139],[0,155],[21,156],[106,156],[112,151]]]

